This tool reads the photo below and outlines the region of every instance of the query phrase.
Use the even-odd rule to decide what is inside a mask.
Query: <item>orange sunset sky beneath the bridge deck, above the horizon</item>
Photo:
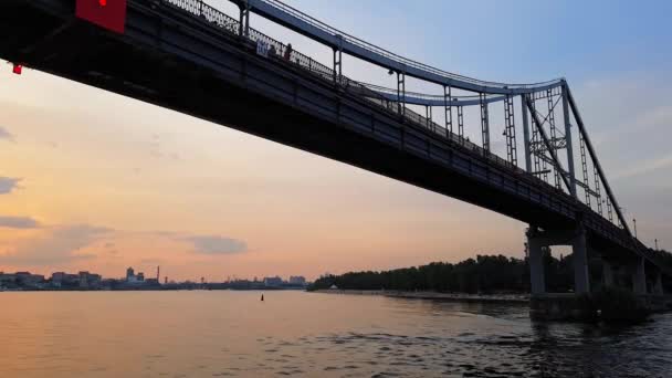
[[[175,280],[313,279],[523,253],[524,224],[490,211],[36,71],[8,71],[0,271],[114,277],[129,265],[151,275],[161,265]]]

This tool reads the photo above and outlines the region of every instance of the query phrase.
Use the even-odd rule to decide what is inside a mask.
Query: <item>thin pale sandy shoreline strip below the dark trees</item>
[[[387,290],[316,290],[313,293],[342,295],[381,295],[396,298],[432,300],[452,302],[489,302],[489,303],[521,303],[528,304],[528,294],[466,294],[438,292],[402,292]]]

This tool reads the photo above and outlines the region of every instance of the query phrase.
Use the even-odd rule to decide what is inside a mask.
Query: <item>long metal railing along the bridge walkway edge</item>
[[[162,0],[162,2],[171,7],[178,8],[182,11],[187,11],[212,25],[221,28],[224,32],[231,33],[234,36],[241,36],[240,22],[238,20],[221,12],[216,8],[203,3],[201,0]],[[450,143],[458,146],[462,146],[463,148],[466,148],[472,153],[479,154],[480,156],[497,165],[523,172],[521,168],[514,166],[508,160],[503,159],[495,154],[486,151],[481,146],[477,146],[476,144],[470,141],[469,139],[462,136],[451,133],[445,127],[433,122],[431,118],[427,118],[406,106],[400,106],[399,103],[389,101],[388,98],[384,97],[381,94],[371,90],[367,85],[350,80],[346,76],[337,75],[332,67],[328,67],[313,60],[312,57],[302,54],[296,50],[292,50],[288,59],[285,59],[285,53],[287,51],[286,44],[252,28],[249,28],[246,32],[248,35],[243,36],[253,45],[263,43],[267,46],[269,51],[275,51],[274,54],[269,54],[271,59],[284,61],[286,64],[292,64],[292,66],[307,71],[322,80],[338,84],[349,93],[359,95],[360,97],[367,99],[369,103],[375,104],[384,108],[385,111],[395,114],[395,116],[397,117],[401,117],[406,122],[412,123],[416,126],[420,126],[434,134],[441,135],[442,137],[448,138]]]

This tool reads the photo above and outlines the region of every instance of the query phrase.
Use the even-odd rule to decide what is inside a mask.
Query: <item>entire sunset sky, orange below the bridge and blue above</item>
[[[287,2],[451,72],[567,77],[628,219],[637,217],[648,244],[672,248],[670,2]],[[328,63],[324,48],[256,17],[252,27]],[[350,61],[346,75],[393,85]],[[161,265],[174,280],[314,279],[476,253],[519,258],[525,227],[212,123],[0,66],[0,271],[117,277]]]

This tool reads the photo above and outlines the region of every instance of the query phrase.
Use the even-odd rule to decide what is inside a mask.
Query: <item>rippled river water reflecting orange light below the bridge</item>
[[[672,377],[672,314],[303,292],[0,293],[0,377]]]

